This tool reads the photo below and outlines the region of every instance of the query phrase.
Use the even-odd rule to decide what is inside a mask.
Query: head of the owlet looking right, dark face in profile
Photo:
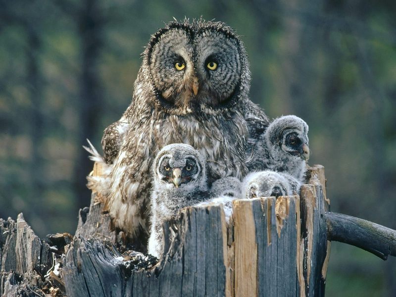
[[[309,159],[308,125],[295,115],[275,119],[265,132],[269,148],[303,160]]]

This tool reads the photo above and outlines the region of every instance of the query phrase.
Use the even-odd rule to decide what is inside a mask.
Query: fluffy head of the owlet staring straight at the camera
[[[166,188],[200,190],[206,185],[205,165],[202,155],[192,146],[168,145],[155,157],[154,180]]]

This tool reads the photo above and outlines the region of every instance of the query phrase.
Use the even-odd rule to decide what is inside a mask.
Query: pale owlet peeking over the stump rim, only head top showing
[[[289,196],[298,194],[300,186],[290,174],[264,170],[245,177],[242,193],[245,198]]]

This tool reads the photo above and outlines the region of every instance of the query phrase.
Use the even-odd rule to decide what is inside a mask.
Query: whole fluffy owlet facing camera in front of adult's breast
[[[153,256],[162,254],[163,221],[209,197],[205,163],[198,150],[185,144],[168,145],[155,157],[148,239],[148,253]]]

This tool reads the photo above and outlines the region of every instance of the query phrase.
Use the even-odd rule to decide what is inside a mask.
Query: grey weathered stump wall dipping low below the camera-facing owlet
[[[140,268],[144,258],[123,261],[109,243],[77,238],[66,255],[67,296],[225,296],[225,224],[220,206],[183,209],[164,224],[170,240],[153,268]]]

